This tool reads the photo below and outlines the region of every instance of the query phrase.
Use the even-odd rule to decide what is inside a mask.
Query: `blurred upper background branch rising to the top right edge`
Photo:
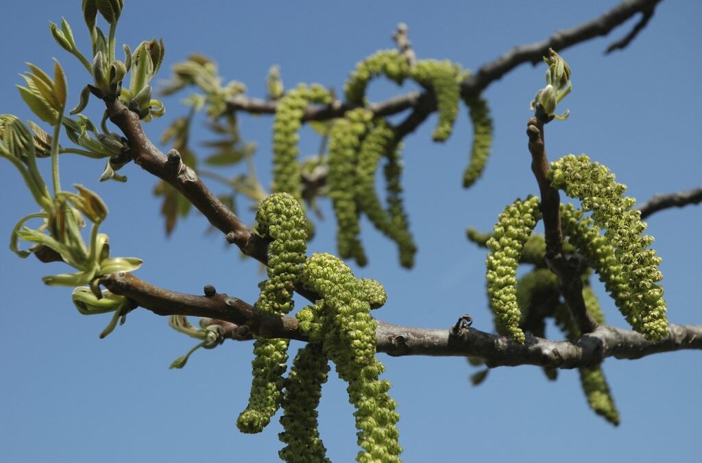
[[[520,45],[503,54],[496,60],[486,63],[475,73],[468,76],[461,82],[461,96],[470,98],[478,95],[494,81],[497,81],[515,67],[524,63],[538,63],[545,55],[548,48],[562,51],[565,48],[588,41],[597,36],[607,35],[621,23],[625,22],[637,13],[652,11],[661,0],[627,0],[618,6],[604,13],[599,18],[585,22],[568,30],[556,32],[548,39],[534,44]],[[424,92],[421,96],[430,92]],[[410,107],[421,104],[420,93],[413,91],[405,95],[396,96],[382,103],[371,103],[368,109],[375,115],[388,116],[402,112]],[[227,100],[228,111],[244,111],[251,114],[275,114],[278,103],[276,101],[261,100],[258,98],[247,98],[246,96],[235,96]],[[335,101],[329,106],[307,107],[303,115],[303,121],[333,119],[343,116],[344,112],[353,109],[354,105]],[[434,103],[430,112],[436,110]],[[409,133],[409,132],[408,132]]]

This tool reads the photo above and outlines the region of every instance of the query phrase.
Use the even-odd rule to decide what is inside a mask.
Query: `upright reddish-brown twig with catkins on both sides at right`
[[[537,107],[537,114],[540,107]],[[565,299],[573,320],[581,333],[597,329],[597,322],[588,312],[583,299],[583,262],[563,253],[561,231],[560,195],[548,181],[548,157],[544,143],[543,117],[532,117],[527,124],[531,171],[534,172],[538,190],[541,193],[541,216],[545,229],[546,255],[548,268],[558,277],[560,292]]]

